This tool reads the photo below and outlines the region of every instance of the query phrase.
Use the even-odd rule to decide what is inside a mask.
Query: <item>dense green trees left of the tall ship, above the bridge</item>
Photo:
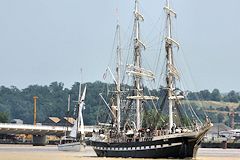
[[[105,85],[102,82],[85,83],[87,85],[86,106],[84,110],[85,124],[94,124],[96,113],[100,105],[100,92]],[[83,89],[83,87],[82,87]],[[0,122],[9,122],[11,119],[22,119],[24,123],[33,123],[33,96],[37,96],[37,122],[41,123],[48,117],[62,118],[67,116],[68,95],[71,96],[70,116],[76,116],[79,83],[76,82],[70,89],[64,88],[61,82],[52,82],[50,85],[30,85],[19,90],[15,86],[0,87]],[[75,114],[74,114],[75,112]]]

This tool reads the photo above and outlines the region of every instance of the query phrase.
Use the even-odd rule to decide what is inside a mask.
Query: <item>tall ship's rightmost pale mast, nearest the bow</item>
[[[177,69],[173,62],[173,45],[179,47],[179,44],[172,39],[172,16],[176,17],[176,13],[170,8],[169,0],[166,0],[166,6],[164,7],[167,15],[167,33],[165,37],[165,49],[166,49],[166,68],[167,68],[167,90],[168,90],[168,108],[169,108],[169,133],[172,133],[173,127],[173,101],[182,97],[175,96],[173,91],[175,89],[175,79],[178,78]]]

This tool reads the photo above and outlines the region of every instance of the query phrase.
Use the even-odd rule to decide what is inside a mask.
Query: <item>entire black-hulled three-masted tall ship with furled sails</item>
[[[169,0],[166,0],[164,11],[165,82],[164,87],[155,90],[155,96],[146,91],[147,85],[143,83],[146,78],[154,80],[155,74],[143,68],[142,52],[145,45],[141,41],[140,25],[144,17],[139,10],[139,1],[135,0],[133,64],[126,65],[126,73],[131,77],[132,84],[126,85],[121,81],[121,43],[118,42],[115,76],[109,69],[115,84],[113,98],[107,102],[100,94],[111,113],[112,121],[99,124],[100,129],[94,132],[91,140],[99,157],[196,157],[205,133],[212,126],[207,116],[198,118],[192,106],[188,105],[185,92],[177,86],[180,74],[174,63],[174,51],[179,48],[179,43],[172,36],[172,19],[176,13],[170,7]],[[117,35],[119,30],[118,24]]]

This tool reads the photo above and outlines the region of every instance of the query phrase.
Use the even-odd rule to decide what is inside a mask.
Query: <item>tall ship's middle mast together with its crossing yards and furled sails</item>
[[[139,12],[139,2],[135,0],[134,10],[134,63],[127,65],[127,73],[133,75],[134,95],[127,96],[128,99],[135,100],[136,109],[136,129],[142,128],[141,124],[141,105],[143,100],[157,100],[155,96],[143,95],[142,78],[147,77],[154,80],[155,75],[152,71],[142,68],[141,51],[145,49],[145,45],[140,40],[140,22],[144,21],[143,16]]]

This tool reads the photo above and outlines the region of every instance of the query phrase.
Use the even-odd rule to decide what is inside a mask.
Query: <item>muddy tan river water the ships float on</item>
[[[126,158],[100,158],[91,147],[81,152],[60,152],[57,146],[31,146],[0,144],[0,160],[122,160]],[[130,158],[129,158],[130,159]],[[132,159],[132,158],[131,158]],[[197,160],[240,160],[240,149],[200,148]],[[135,159],[134,160],[141,160]],[[145,159],[147,160],[147,159]]]

